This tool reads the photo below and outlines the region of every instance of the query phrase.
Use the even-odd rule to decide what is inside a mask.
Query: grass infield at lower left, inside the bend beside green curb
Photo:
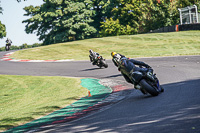
[[[0,131],[66,107],[87,95],[78,78],[0,75]]]

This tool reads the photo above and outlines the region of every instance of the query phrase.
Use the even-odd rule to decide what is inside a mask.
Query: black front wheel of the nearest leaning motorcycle
[[[142,79],[140,81],[140,85],[143,89],[145,89],[152,96],[157,96],[159,94],[159,91],[156,88],[154,88],[153,86],[151,86],[150,84],[148,84],[145,79]]]

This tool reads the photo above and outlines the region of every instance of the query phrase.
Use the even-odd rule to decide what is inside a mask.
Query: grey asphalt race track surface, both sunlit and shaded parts
[[[0,58],[6,52],[0,52]],[[144,96],[132,89],[127,98],[94,115],[43,127],[38,132],[199,133],[200,56],[138,58],[157,73],[165,92]],[[99,69],[89,61],[32,63],[0,61],[0,74],[91,77],[124,81],[120,72]]]

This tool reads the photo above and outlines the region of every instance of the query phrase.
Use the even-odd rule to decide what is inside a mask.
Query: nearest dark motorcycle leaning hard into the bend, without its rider
[[[140,71],[132,72],[130,77],[136,89],[140,89],[143,94],[149,93],[152,96],[157,96],[159,93],[164,92],[152,69],[146,73]]]

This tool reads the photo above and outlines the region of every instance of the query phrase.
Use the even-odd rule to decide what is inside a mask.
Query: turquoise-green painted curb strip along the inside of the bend
[[[91,97],[83,97],[65,108],[5,132],[31,132],[40,127],[78,119],[103,106],[104,104],[99,104],[99,102],[112,93],[111,88],[101,85],[97,79],[81,79],[81,85],[92,93]]]

